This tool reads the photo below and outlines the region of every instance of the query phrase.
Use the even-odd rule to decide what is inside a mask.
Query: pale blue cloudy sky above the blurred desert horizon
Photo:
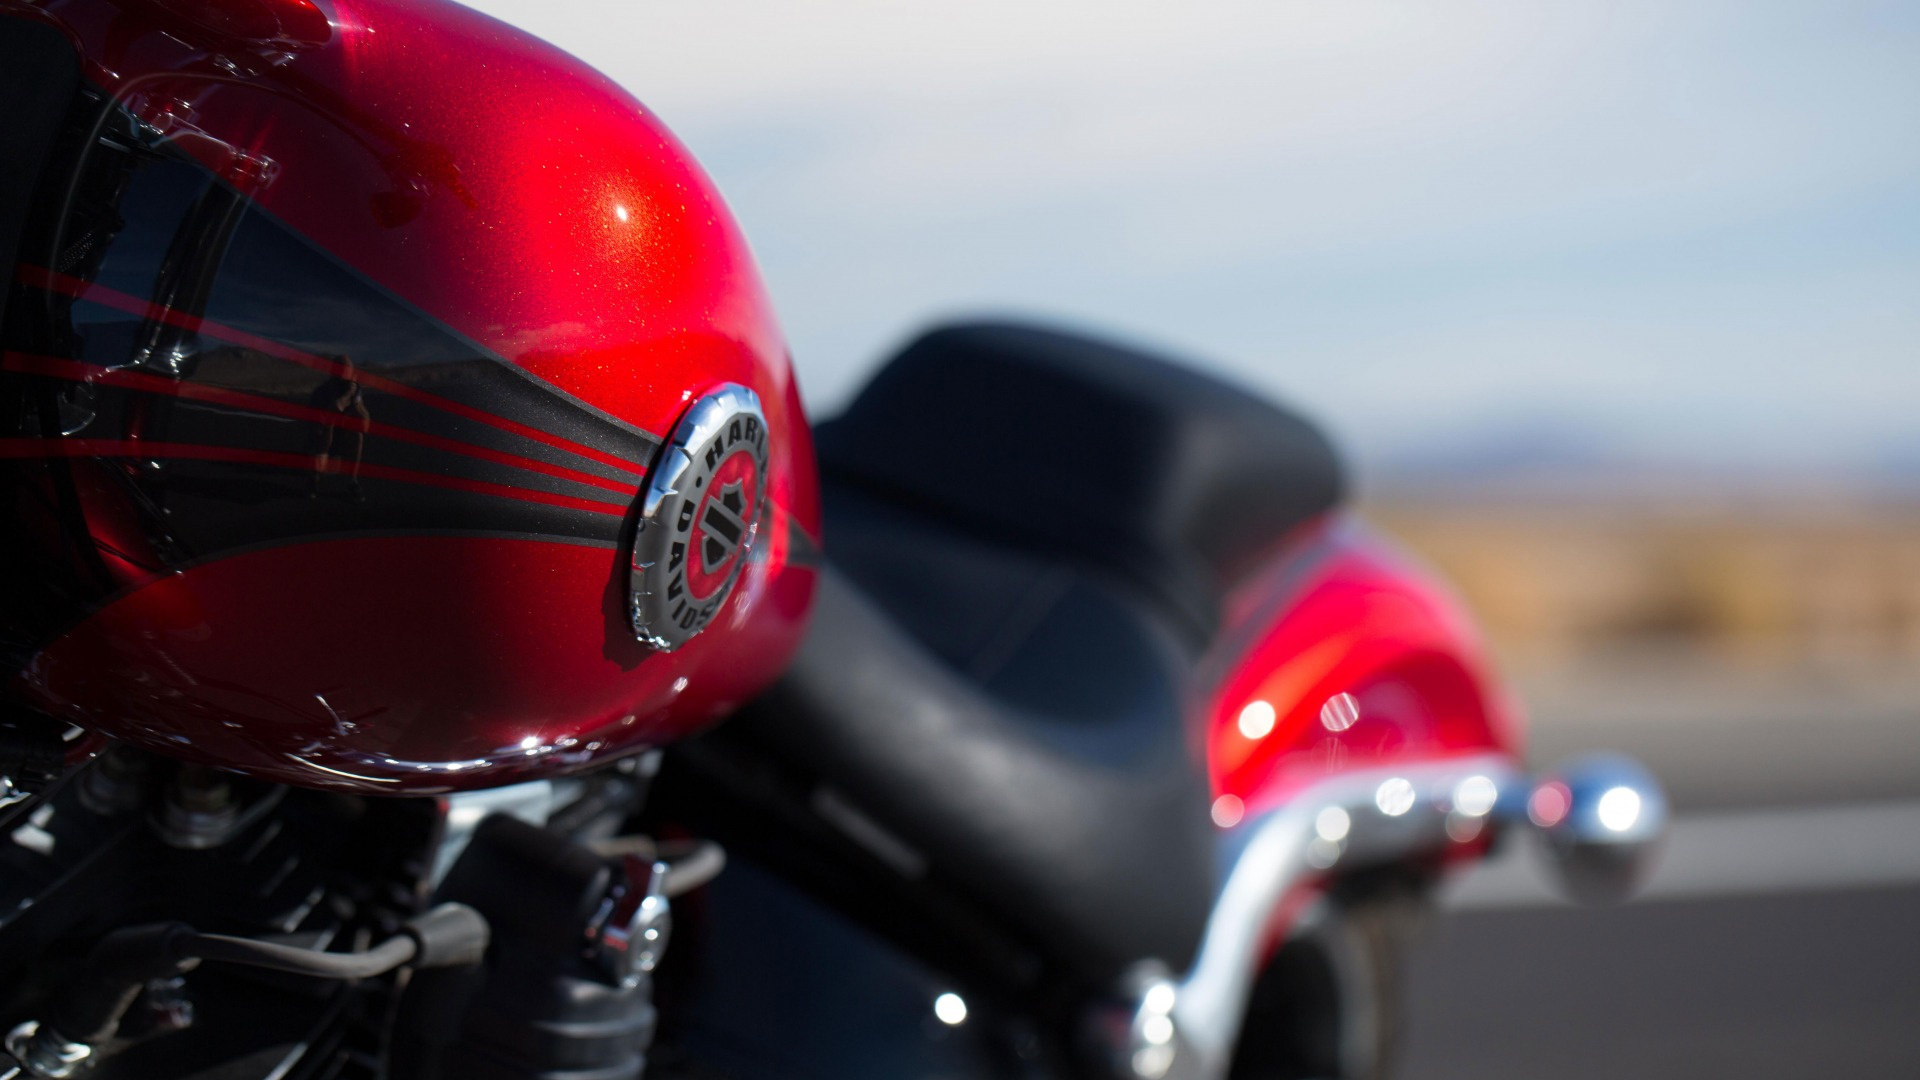
[[[1920,4],[476,6],[693,150],[818,415],[1018,315],[1371,475],[1920,477]]]

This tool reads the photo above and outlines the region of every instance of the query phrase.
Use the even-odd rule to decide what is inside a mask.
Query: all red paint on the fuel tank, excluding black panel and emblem
[[[13,373],[136,398],[125,430],[0,440],[0,457],[71,471],[73,480],[52,467],[21,473],[17,488],[33,492],[42,475],[77,484],[67,502],[98,548],[77,559],[104,561],[111,586],[98,611],[31,659],[13,694],[179,757],[292,784],[424,794],[584,769],[670,740],[778,675],[812,596],[814,571],[793,555],[812,552],[820,532],[806,417],[745,240],[639,102],[545,42],[442,0],[0,0],[0,17],[56,25],[90,85],[250,208],[540,384],[662,436],[687,402],[739,382],[760,396],[774,436],[770,519],[728,607],[680,651],[651,653],[628,628],[626,559],[612,540],[645,459],[355,369],[292,332],[242,331],[159,296],[23,265],[15,279],[29,288],[390,394],[449,427],[10,352]],[[369,444],[509,473],[146,438],[142,417],[161,400],[365,432]],[[476,425],[493,430],[493,446],[463,434]],[[127,494],[134,459],[457,490],[605,517],[609,538],[334,532],[180,563],[152,548],[150,511]],[[555,480],[586,490],[549,490]],[[25,528],[44,517],[40,548],[65,550],[67,525],[52,511],[13,517]]]

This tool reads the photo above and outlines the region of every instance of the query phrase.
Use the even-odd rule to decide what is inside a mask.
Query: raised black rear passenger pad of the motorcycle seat
[[[912,342],[816,444],[828,484],[1108,571],[1200,638],[1221,594],[1344,490],[1296,413],[1133,348],[998,323]]]

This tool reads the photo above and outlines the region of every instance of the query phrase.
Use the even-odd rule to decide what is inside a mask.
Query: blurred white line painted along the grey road
[[[1450,882],[1450,909],[1563,903],[1530,834]],[[1701,813],[1674,821],[1640,894],[1649,899],[1764,896],[1920,884],[1920,801]]]

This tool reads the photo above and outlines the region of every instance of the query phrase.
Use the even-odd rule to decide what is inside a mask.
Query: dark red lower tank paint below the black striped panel
[[[668,740],[774,678],[810,578],[764,557],[749,578],[724,632],[660,657],[626,630],[624,582],[601,548],[451,536],[271,548],[134,590],[27,678],[61,715],[113,717],[119,738],[284,782],[493,786]],[[394,596],[420,615],[367,619]]]

